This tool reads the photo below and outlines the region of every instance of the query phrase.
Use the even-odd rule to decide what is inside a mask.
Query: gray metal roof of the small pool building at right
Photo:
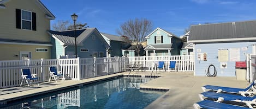
[[[192,25],[188,41],[215,40],[213,42],[220,42],[222,39],[239,40],[239,38],[252,37],[256,37],[256,21],[243,21]]]

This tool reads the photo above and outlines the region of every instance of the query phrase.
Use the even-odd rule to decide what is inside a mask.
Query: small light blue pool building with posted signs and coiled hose
[[[255,50],[255,28],[256,21],[192,25],[188,42],[194,43],[194,75],[236,76],[235,62],[246,61]]]

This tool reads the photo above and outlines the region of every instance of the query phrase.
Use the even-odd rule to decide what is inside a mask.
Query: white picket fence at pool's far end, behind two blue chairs
[[[136,56],[129,57],[129,64],[141,65],[146,70],[153,70],[154,65],[159,61],[164,61],[164,67],[167,71],[170,69],[170,61],[176,61],[176,70],[182,72],[194,71],[194,56],[193,55],[174,55],[174,56]]]

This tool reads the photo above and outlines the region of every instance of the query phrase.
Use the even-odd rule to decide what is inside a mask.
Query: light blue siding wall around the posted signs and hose
[[[226,69],[220,67],[220,62],[218,61],[218,49],[240,48],[240,61],[246,61],[246,54],[252,53],[252,46],[249,45],[255,43],[256,42],[195,44],[195,75],[204,76],[206,72],[205,70],[212,64],[216,67],[217,76],[235,76],[235,62],[228,61]],[[242,47],[247,46],[248,49],[246,51],[241,50]],[[201,49],[201,52],[197,52],[197,49]],[[197,57],[198,53],[207,53],[207,61],[199,61]]]

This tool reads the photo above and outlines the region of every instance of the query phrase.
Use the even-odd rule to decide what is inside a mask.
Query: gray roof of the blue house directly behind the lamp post
[[[87,28],[87,29],[76,30],[77,43],[78,44],[81,43],[94,30],[96,30],[96,28]],[[67,31],[52,31],[52,30],[50,30],[49,32],[66,45],[74,45],[75,44],[74,30],[67,30]]]

